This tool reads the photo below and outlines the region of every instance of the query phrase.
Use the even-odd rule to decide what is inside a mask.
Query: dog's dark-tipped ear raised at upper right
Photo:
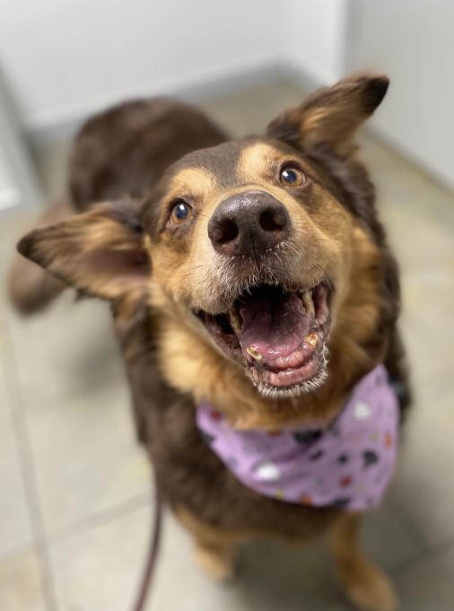
[[[339,155],[354,151],[354,133],[371,116],[388,90],[386,76],[360,74],[310,95],[301,106],[284,110],[266,133],[301,151],[321,146]]]

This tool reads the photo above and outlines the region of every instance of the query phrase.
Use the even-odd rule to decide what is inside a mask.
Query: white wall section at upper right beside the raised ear
[[[454,2],[355,0],[352,69],[389,74],[373,125],[391,144],[454,187]]]

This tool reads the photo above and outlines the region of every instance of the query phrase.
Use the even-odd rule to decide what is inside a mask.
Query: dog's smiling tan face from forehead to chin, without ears
[[[326,182],[290,146],[249,138],[189,154],[145,205],[153,302],[264,394],[294,395],[326,375],[353,241]]]

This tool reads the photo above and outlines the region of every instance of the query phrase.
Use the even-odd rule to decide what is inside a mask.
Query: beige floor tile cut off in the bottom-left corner
[[[35,554],[0,564],[0,609],[2,611],[45,611]]]

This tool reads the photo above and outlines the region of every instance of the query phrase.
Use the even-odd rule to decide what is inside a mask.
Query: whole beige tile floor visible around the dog
[[[301,99],[270,83],[205,108],[235,135],[260,130]],[[41,147],[50,196],[64,181],[66,141]],[[364,136],[380,213],[402,266],[402,329],[415,409],[389,496],[365,546],[394,577],[405,611],[454,609],[454,196]],[[31,214],[0,217],[2,282]],[[127,387],[101,303],[68,292],[21,319],[0,293],[0,610],[127,611],[153,514]],[[71,349],[68,350],[68,346]],[[240,579],[205,580],[187,535],[166,518],[150,611],[346,611],[323,546],[259,542]]]

